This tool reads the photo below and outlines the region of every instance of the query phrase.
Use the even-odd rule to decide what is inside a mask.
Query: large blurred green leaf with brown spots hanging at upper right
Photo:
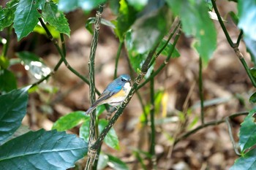
[[[208,7],[203,0],[166,0],[174,13],[181,18],[182,30],[187,36],[195,36],[194,47],[208,63],[217,47],[217,33],[214,23],[209,18]]]

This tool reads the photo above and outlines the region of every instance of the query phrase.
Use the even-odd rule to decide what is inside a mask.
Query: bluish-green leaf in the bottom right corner
[[[246,152],[243,156],[236,159],[230,170],[254,170],[256,169],[256,149]]]

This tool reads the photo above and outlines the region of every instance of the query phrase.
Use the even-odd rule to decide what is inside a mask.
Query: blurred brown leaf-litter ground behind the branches
[[[1,1],[4,6],[6,1]],[[236,12],[236,4],[229,1],[217,1],[219,12],[227,20],[225,25],[231,38],[236,41],[239,30],[233,24],[228,12]],[[80,74],[89,75],[89,53],[92,35],[85,28],[86,20],[95,16],[95,11],[84,14],[80,10],[70,12],[67,15],[71,28],[70,38],[65,36],[67,47],[67,61],[70,66]],[[106,20],[115,19],[109,7],[106,6],[102,14]],[[206,100],[205,122],[220,120],[236,112],[246,111],[252,108],[249,104],[249,96],[252,94],[252,85],[247,77],[244,67],[236,57],[233,49],[228,45],[227,39],[220,28],[218,21],[214,21],[217,28],[217,50],[208,63],[203,67],[203,97]],[[113,80],[116,53],[118,50],[118,38],[108,26],[101,26],[99,31],[99,43],[97,46],[95,69],[96,86],[102,92],[109,82]],[[50,69],[59,61],[52,42],[43,34],[33,33],[17,42],[15,33],[12,32],[10,49],[7,55],[17,58],[16,53],[30,51],[37,54]],[[0,32],[1,37],[7,36],[7,31]],[[233,150],[227,125],[212,125],[203,128],[183,139],[173,147],[173,141],[183,134],[200,125],[200,96],[198,90],[199,56],[192,49],[192,37],[181,34],[178,40],[178,49],[181,56],[172,58],[163,71],[155,78],[155,91],[157,97],[156,112],[156,153],[158,169],[229,169],[233,165],[236,153]],[[239,49],[243,53],[249,66],[250,56],[246,53],[244,42]],[[2,50],[2,45],[0,45]],[[157,58],[155,68],[165,61],[164,56]],[[118,63],[118,75],[137,74],[130,69],[127,51],[121,50],[121,58]],[[37,80],[27,72],[23,65],[12,66],[12,72],[18,80],[18,87],[36,82]],[[149,83],[139,90],[143,104],[149,104]],[[29,125],[33,130],[45,128],[50,130],[53,123],[59,117],[69,112],[86,111],[90,106],[89,85],[69,72],[64,64],[50,77],[47,83],[42,83],[39,88],[29,95],[28,114],[23,119],[23,125]],[[140,169],[136,150],[148,150],[149,125],[143,125],[141,115],[143,109],[138,96],[133,96],[129,105],[124,109],[124,114],[114,125],[120,150],[113,150],[107,145],[102,145],[102,151],[127,163],[129,169]],[[102,115],[102,118],[105,114]],[[180,127],[181,117],[186,117],[187,128]],[[238,128],[243,117],[237,117],[233,122],[233,136],[238,141]],[[78,134],[78,128],[69,133]],[[84,163],[81,161],[80,163]],[[110,169],[110,168],[107,168]]]

